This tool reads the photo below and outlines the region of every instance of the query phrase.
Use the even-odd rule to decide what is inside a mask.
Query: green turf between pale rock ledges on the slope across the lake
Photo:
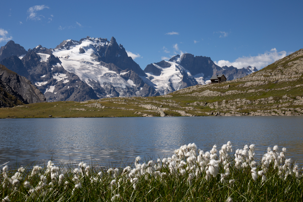
[[[283,75],[282,71],[285,74],[289,74],[290,72],[299,74],[298,71],[300,68],[293,67],[293,64],[289,64],[294,61],[301,61],[302,56],[293,57],[293,55],[289,55],[275,63],[268,65],[267,67],[248,75],[247,77],[251,77],[254,75],[265,75],[268,76],[269,73],[273,75]],[[281,69],[279,69],[281,68]],[[250,81],[248,81],[250,82]],[[52,117],[141,117],[142,115],[149,115],[149,116],[160,116],[157,112],[146,111],[146,108],[140,107],[142,104],[152,104],[157,107],[161,108],[169,108],[169,110],[165,111],[165,114],[168,116],[180,116],[179,113],[174,112],[173,110],[181,110],[185,111],[186,113],[197,115],[197,116],[205,116],[209,112],[213,112],[215,110],[229,113],[231,111],[238,111],[238,112],[247,112],[250,111],[257,111],[257,110],[268,110],[271,108],[277,108],[276,105],[280,104],[280,100],[282,96],[288,95],[292,99],[296,99],[296,96],[302,97],[303,94],[303,87],[297,86],[299,84],[303,84],[303,77],[295,78],[294,81],[288,80],[281,80],[278,83],[274,83],[274,80],[268,82],[267,84],[263,85],[251,85],[248,87],[244,87],[246,82],[243,79],[236,79],[234,81],[223,82],[220,84],[211,84],[211,85],[203,85],[203,86],[191,86],[187,89],[181,89],[179,91],[175,91],[169,94],[170,98],[168,97],[133,97],[133,98],[103,98],[99,100],[91,100],[87,103],[80,103],[74,101],[66,101],[66,102],[52,102],[52,103],[35,103],[35,104],[28,104],[22,105],[23,107],[15,107],[15,108],[0,108],[0,118],[48,118],[49,115]],[[228,89],[222,88],[229,85]],[[297,86],[297,87],[296,87]],[[286,88],[285,88],[286,87]],[[188,92],[185,92],[187,90]],[[199,96],[193,95],[193,93],[202,93],[203,91],[214,91],[219,92],[220,95],[216,96]],[[254,92],[248,92],[249,90],[255,90]],[[236,91],[239,93],[232,93],[231,91]],[[226,93],[227,92],[227,93]],[[226,94],[225,94],[226,93]],[[237,99],[247,99],[250,101],[256,101],[262,98],[269,98],[273,97],[275,102],[274,103],[260,103],[260,104],[248,104],[245,107],[249,109],[240,110],[243,108],[243,105],[237,106],[235,109],[231,108],[210,108],[209,106],[212,105],[214,102],[222,102],[225,101],[233,101],[236,102]],[[208,105],[205,107],[196,105],[190,105],[193,102],[207,102]],[[5,102],[3,100],[2,102]],[[93,104],[93,103],[102,104],[105,106],[104,109],[99,108],[89,108],[84,106],[85,104]],[[115,103],[118,102],[118,103]],[[127,104],[121,104],[125,102]],[[165,103],[165,104],[159,104]],[[119,104],[120,103],[120,104]],[[189,103],[189,105],[188,105]],[[15,102],[15,105],[20,104],[20,102]],[[171,104],[178,104],[178,106],[174,106]],[[283,101],[282,104],[287,104],[287,101]],[[56,105],[56,107],[55,107]],[[186,107],[193,107],[194,109],[186,109]],[[79,111],[73,110],[73,108],[84,108],[86,111]],[[133,109],[133,110],[123,110],[121,108],[126,109]],[[283,108],[283,106],[282,106]],[[287,108],[303,108],[301,105],[296,105],[290,101],[290,105]],[[198,111],[202,112],[199,113]],[[135,113],[137,112],[137,113]],[[140,113],[138,113],[140,112]],[[300,114],[302,115],[302,113]]]

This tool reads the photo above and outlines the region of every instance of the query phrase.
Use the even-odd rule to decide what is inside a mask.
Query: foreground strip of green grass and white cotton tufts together
[[[202,151],[183,145],[170,157],[136,157],[132,164],[93,162],[9,169],[0,165],[2,201],[302,201],[302,168],[287,149],[255,145]]]

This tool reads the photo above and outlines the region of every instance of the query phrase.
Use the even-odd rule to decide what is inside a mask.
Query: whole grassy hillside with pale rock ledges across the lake
[[[0,109],[0,118],[302,115],[303,49],[246,77],[157,97],[36,103]]]

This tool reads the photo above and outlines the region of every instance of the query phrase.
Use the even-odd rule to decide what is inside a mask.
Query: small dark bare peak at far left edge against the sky
[[[8,41],[5,46],[1,46],[0,48],[0,61],[12,55],[20,57],[26,53],[27,51],[22,46],[15,44],[14,41]]]

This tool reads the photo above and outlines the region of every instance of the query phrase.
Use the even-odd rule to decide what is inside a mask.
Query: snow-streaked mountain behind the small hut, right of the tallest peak
[[[213,75],[224,74],[227,80],[241,78],[256,68],[219,67],[209,57],[194,56],[189,53],[176,55],[169,61],[147,65],[144,69],[147,77],[142,79],[155,88],[161,95],[171,93],[196,84],[207,84]]]

